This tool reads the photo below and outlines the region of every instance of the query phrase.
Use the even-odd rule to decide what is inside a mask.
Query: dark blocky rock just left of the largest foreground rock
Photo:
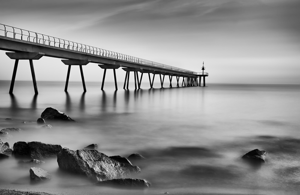
[[[44,159],[56,156],[62,147],[57,144],[45,144],[40,141],[18,141],[13,144],[14,155],[29,156],[32,159]]]

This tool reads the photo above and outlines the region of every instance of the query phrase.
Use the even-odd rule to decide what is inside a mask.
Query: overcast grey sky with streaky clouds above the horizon
[[[11,0],[0,23],[197,72],[204,61],[207,83],[300,84],[299,10],[299,0]],[[0,58],[0,79],[10,80],[14,61]],[[38,81],[66,78],[60,59],[34,65]],[[97,64],[83,71],[102,81]],[[80,79],[72,67],[70,81]],[[28,60],[16,80],[31,80]]]

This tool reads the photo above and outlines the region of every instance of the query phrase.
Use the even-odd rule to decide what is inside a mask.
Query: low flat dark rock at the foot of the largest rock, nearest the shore
[[[98,182],[95,185],[105,185],[113,187],[125,187],[125,188],[149,188],[151,183],[144,179],[111,179],[102,182]]]

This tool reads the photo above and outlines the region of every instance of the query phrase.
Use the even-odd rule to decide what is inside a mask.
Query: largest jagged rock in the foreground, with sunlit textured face
[[[57,162],[59,168],[94,181],[127,177],[141,171],[137,166],[119,163],[97,150],[63,148],[57,155]]]

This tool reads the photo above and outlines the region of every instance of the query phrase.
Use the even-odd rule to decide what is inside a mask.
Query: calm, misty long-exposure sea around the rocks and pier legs
[[[1,138],[60,144],[72,150],[98,144],[108,156],[139,153],[146,161],[135,178],[152,183],[142,194],[300,194],[300,86],[207,84],[206,87],[160,88],[142,83],[142,89],[114,90],[114,83],[0,81],[0,128],[24,131]],[[176,86],[176,83],[173,83]],[[181,85],[180,85],[181,86]],[[78,123],[35,121],[45,108],[56,108]],[[13,120],[5,120],[12,118]],[[25,123],[23,123],[23,121]],[[266,150],[266,164],[251,167],[241,156]],[[31,185],[29,168],[19,159],[0,161],[0,188],[62,194],[140,194],[99,187],[61,173],[56,159],[41,168],[52,173],[50,182]],[[105,190],[106,189],[106,190]]]

